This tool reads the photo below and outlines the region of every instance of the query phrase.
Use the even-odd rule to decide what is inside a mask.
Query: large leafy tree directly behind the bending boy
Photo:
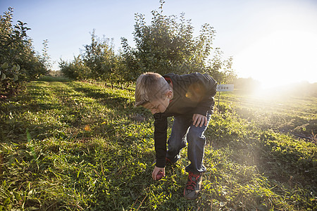
[[[122,39],[127,69],[133,70],[133,75],[147,71],[161,75],[202,72],[212,49],[213,27],[202,25],[200,35],[194,37],[194,27],[185,19],[185,14],[182,13],[179,20],[175,15],[163,15],[164,1],[160,3],[160,11],[152,11],[150,25],[146,25],[144,15],[135,15],[136,49],[128,45],[127,39]]]

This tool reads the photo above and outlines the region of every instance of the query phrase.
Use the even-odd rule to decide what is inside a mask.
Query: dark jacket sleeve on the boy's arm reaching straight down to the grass
[[[167,139],[167,117],[161,114],[154,115],[154,147],[156,152],[156,167],[165,167],[166,139]]]

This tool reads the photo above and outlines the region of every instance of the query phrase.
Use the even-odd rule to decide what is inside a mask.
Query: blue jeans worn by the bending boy
[[[209,123],[211,115],[207,115]],[[207,126],[196,127],[192,124],[192,117],[178,116],[175,117],[170,138],[168,139],[168,151],[166,158],[171,162],[177,162],[180,159],[180,151],[186,146],[187,158],[190,164],[185,168],[186,172],[194,174],[206,172],[204,167],[204,146],[206,145],[206,137],[204,132]]]

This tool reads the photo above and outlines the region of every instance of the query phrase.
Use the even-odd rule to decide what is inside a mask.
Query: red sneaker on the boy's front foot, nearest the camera
[[[201,187],[201,176],[202,173],[194,174],[193,172],[189,172],[187,184],[184,188],[185,198],[189,200],[197,198]]]

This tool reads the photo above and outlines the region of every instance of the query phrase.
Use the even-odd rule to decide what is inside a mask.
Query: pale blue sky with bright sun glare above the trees
[[[194,35],[209,23],[216,30],[213,48],[233,57],[238,77],[252,77],[263,87],[294,82],[317,82],[317,0],[165,0],[164,15],[185,13]],[[13,23],[27,23],[36,51],[49,41],[49,55],[58,61],[73,60],[91,33],[134,46],[135,13],[159,10],[159,0],[0,0],[1,14],[13,8]]]

